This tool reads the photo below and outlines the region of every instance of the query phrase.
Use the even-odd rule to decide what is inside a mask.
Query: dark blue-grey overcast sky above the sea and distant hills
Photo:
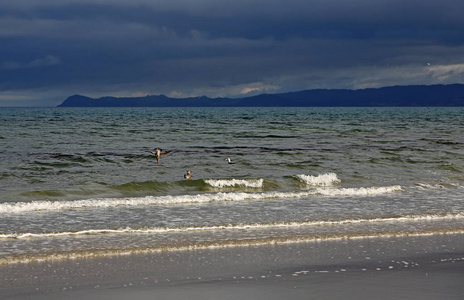
[[[464,83],[464,0],[0,0],[0,106]]]

